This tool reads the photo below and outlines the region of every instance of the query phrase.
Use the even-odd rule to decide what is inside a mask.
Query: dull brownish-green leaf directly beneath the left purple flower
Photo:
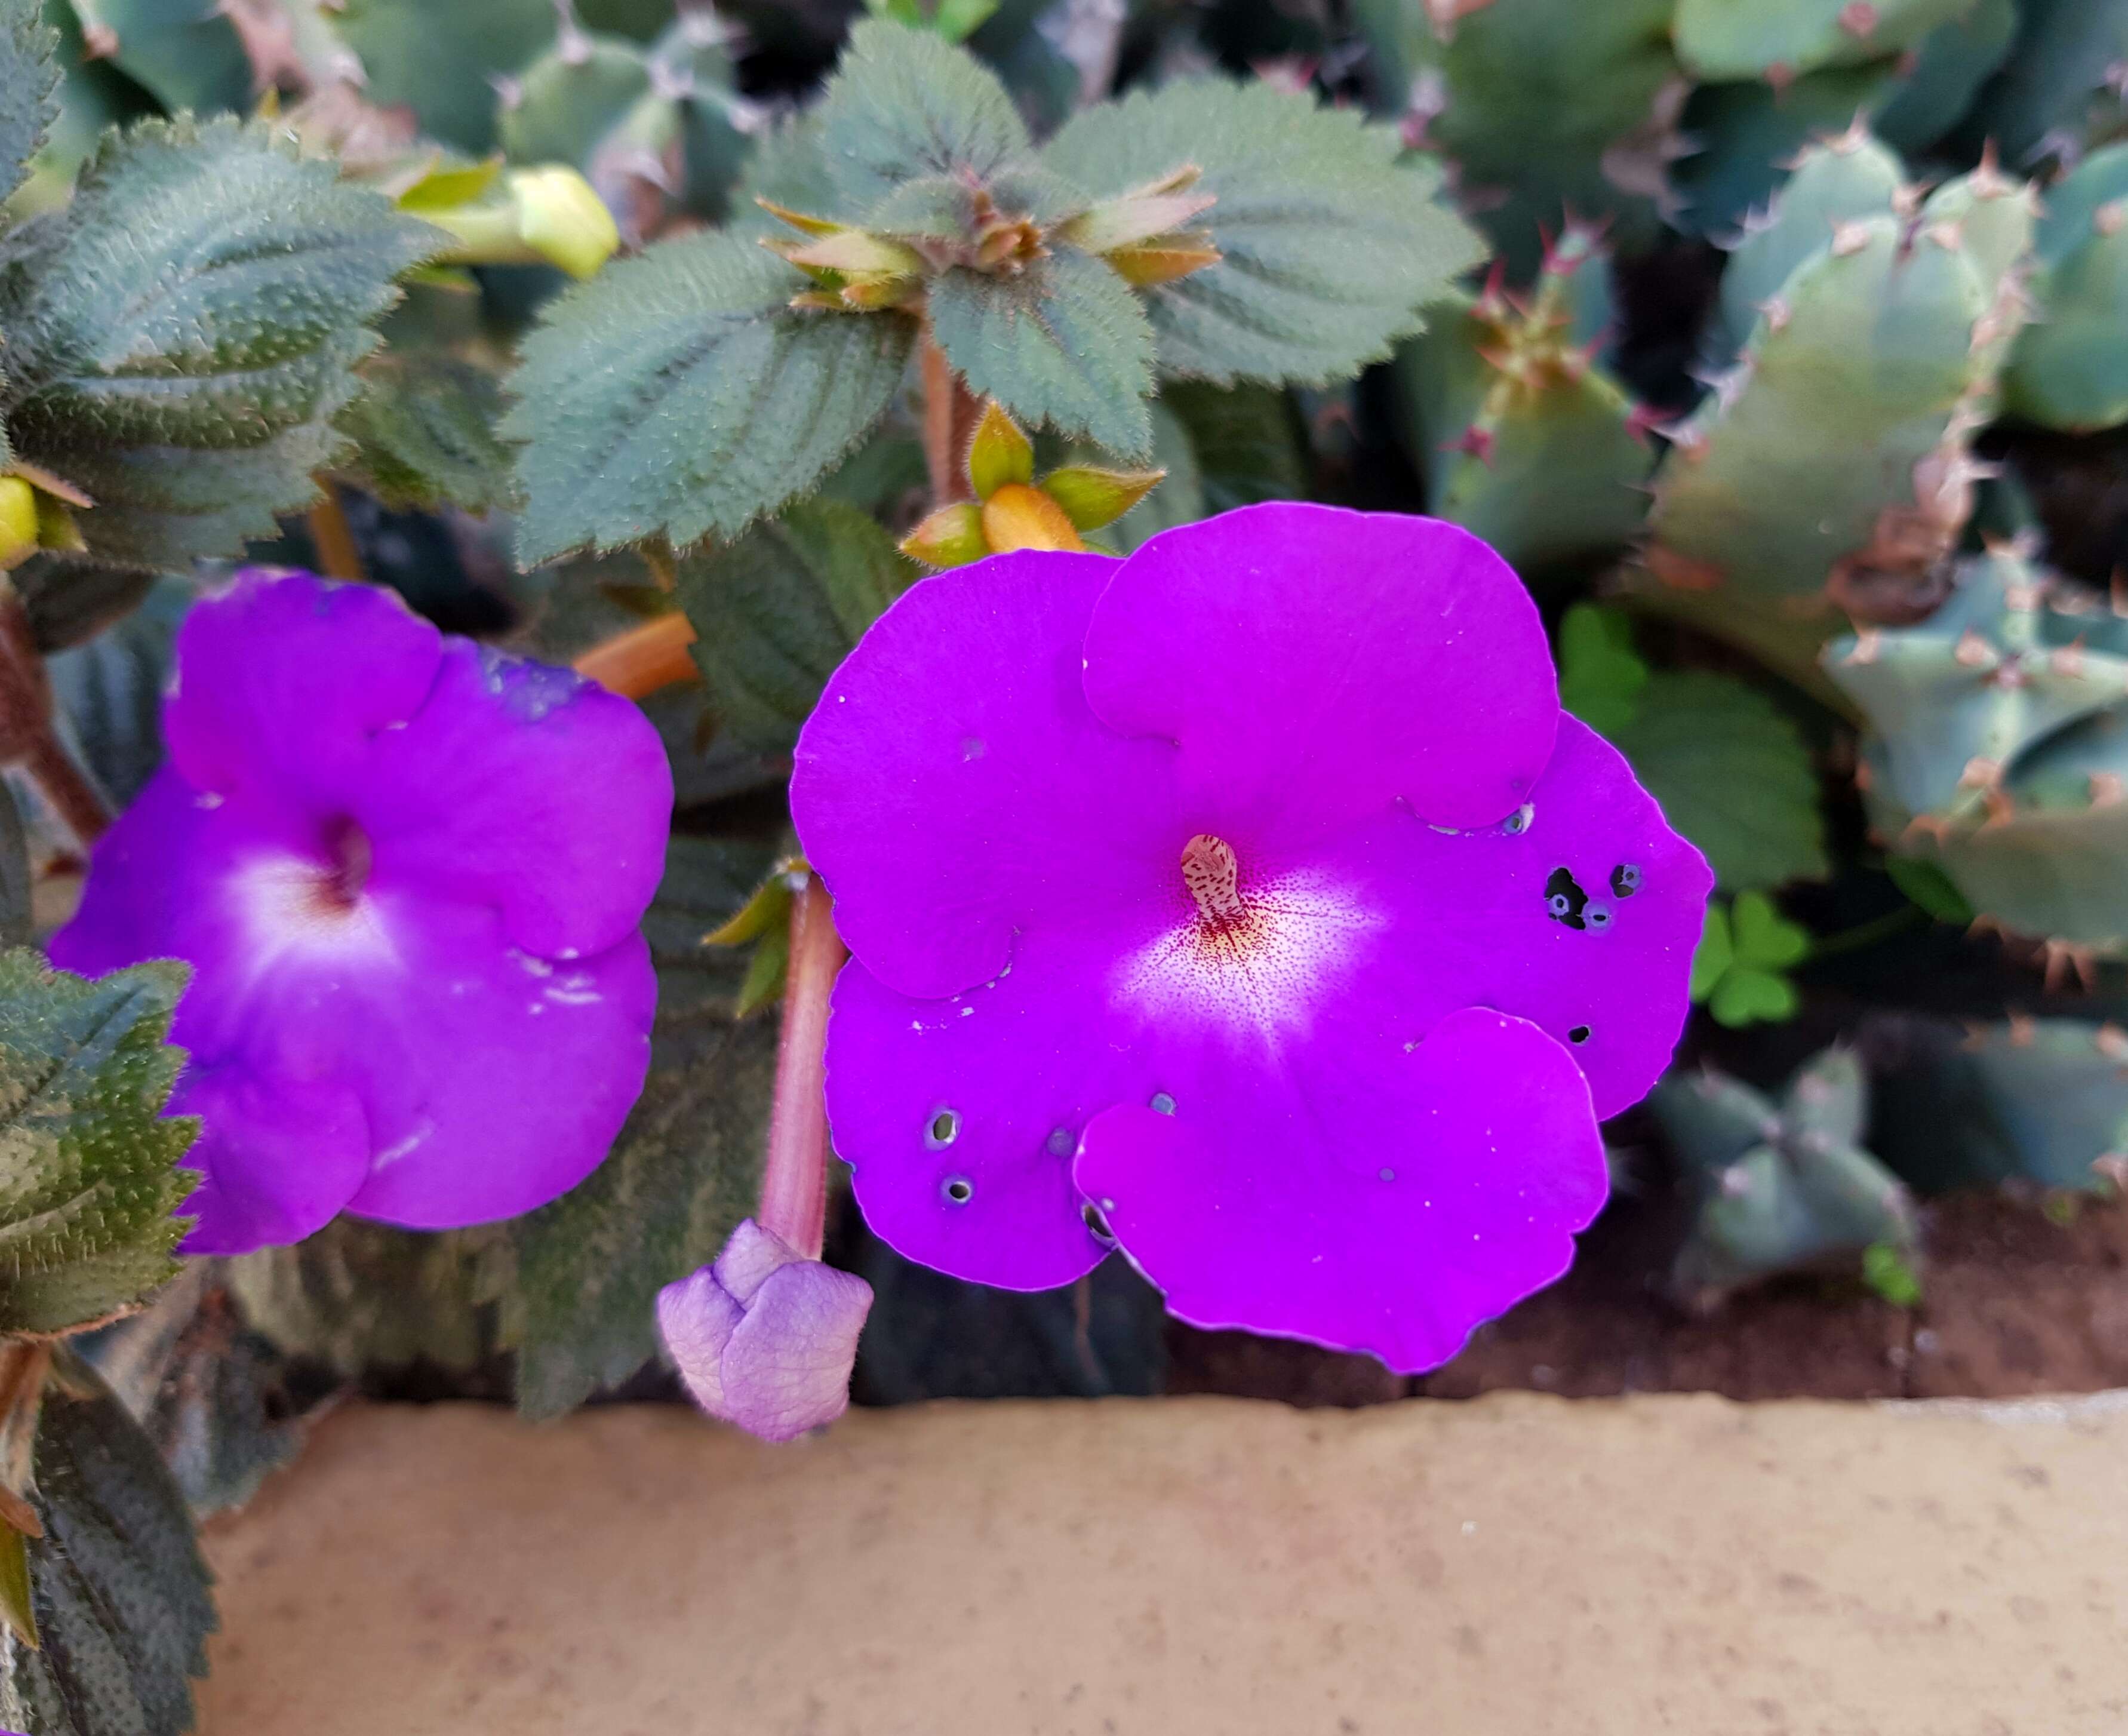
[[[340,1374],[434,1362],[470,1368],[487,1351],[475,1296],[483,1234],[428,1234],[336,1217],[294,1247],[226,1266],[243,1317],[289,1355]]]

